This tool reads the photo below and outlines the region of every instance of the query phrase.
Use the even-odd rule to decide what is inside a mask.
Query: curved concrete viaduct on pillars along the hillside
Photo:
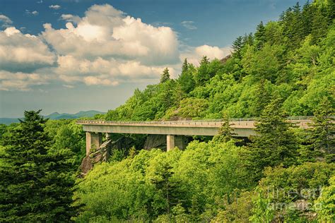
[[[311,117],[288,117],[288,121],[300,128],[308,128]],[[231,119],[230,127],[237,137],[255,135],[254,119]],[[167,135],[167,150],[175,146],[184,148],[184,135],[217,135],[223,121],[197,120],[197,121],[101,121],[80,120],[86,131],[86,155],[91,148],[98,148],[102,144],[102,133],[131,133],[131,134],[158,134]]]

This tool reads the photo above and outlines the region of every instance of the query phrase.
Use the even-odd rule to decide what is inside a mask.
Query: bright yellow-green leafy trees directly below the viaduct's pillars
[[[141,150],[100,164],[79,182],[76,198],[86,206],[78,220],[213,217],[215,200],[247,186],[237,180],[246,179],[240,150],[232,143],[194,141],[185,151]]]

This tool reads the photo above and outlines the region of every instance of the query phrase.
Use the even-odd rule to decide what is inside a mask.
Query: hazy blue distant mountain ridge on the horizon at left
[[[83,117],[93,117],[95,114],[105,114],[105,112],[102,111],[79,111],[76,114],[69,114],[69,113],[61,113],[54,112],[52,114],[48,114],[47,116],[44,116],[45,119],[52,119],[52,120],[59,120],[59,119],[79,119]],[[0,123],[9,125],[11,123],[18,123],[18,119],[23,118],[0,118]]]

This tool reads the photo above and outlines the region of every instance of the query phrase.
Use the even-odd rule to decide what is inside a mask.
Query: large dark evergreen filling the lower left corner
[[[25,111],[20,124],[4,135],[0,168],[0,222],[69,222],[74,169],[69,156],[48,152],[51,140],[40,111]]]

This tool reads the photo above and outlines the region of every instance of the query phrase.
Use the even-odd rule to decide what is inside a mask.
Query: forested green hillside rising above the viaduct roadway
[[[334,1],[296,4],[278,21],[259,23],[254,35],[237,37],[230,59],[210,61],[204,55],[199,67],[185,59],[176,80],[163,73],[161,83],[135,90],[124,105],[104,117],[258,117],[276,97],[289,116],[310,116],[322,97],[334,94],[333,19]]]

